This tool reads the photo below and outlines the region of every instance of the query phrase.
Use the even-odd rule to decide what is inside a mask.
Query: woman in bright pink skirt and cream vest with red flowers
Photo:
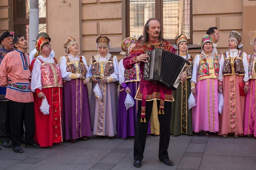
[[[198,136],[204,131],[218,132],[218,59],[213,53],[212,37],[202,39],[202,52],[194,57],[191,91],[196,106],[192,108],[192,128]]]

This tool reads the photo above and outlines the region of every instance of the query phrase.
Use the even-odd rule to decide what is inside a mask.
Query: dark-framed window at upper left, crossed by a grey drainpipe
[[[23,35],[29,40],[29,0],[13,0],[15,35]],[[46,32],[46,0],[38,0],[39,31]],[[28,42],[29,43],[29,42]]]

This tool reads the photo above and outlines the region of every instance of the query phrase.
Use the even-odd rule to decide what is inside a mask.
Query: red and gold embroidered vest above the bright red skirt
[[[39,58],[38,58],[39,59]],[[61,69],[58,66],[57,60],[55,63],[47,63],[39,59],[41,64],[41,85],[42,88],[63,87]]]

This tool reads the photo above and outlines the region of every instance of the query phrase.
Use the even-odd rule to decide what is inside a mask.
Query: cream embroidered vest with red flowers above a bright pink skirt
[[[214,65],[213,68],[208,67],[208,62],[205,62],[202,57],[204,57],[203,54],[199,54],[200,62],[198,66],[198,73],[197,73],[197,81],[203,80],[203,79],[218,79],[218,72],[219,72],[219,64],[218,64],[218,58],[219,54],[214,54]]]

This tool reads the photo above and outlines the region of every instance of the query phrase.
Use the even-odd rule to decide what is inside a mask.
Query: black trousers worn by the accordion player
[[[137,123],[134,137],[134,160],[141,161],[145,150],[145,143],[148,131],[148,122],[150,121],[154,101],[146,102],[145,119],[146,122],[140,122],[141,101],[138,101]],[[160,101],[157,100],[157,110],[160,108]],[[170,142],[170,127],[172,118],[172,103],[164,103],[164,114],[158,114],[160,123],[160,140],[158,158],[160,160],[169,159],[168,147]]]

